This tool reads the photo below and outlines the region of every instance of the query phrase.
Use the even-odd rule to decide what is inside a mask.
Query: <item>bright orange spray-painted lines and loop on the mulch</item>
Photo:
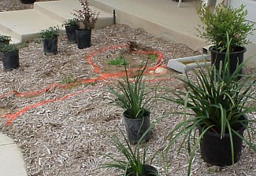
[[[87,57],[87,61],[89,64],[91,64],[91,67],[93,68],[93,72],[98,73],[99,74],[99,68],[96,64],[93,63],[92,61],[92,57],[94,57],[96,54],[98,53],[102,53],[104,51],[107,51],[109,49],[118,49],[118,48],[126,48],[128,46],[124,46],[124,45],[119,45],[119,46],[110,46],[104,49],[98,49],[95,50],[94,52],[90,53],[89,56]],[[158,55],[158,62],[157,64],[155,64],[154,67],[149,67],[146,68],[145,70],[145,74],[149,74],[150,71],[154,71],[156,68],[161,66],[161,59],[162,59],[162,53],[160,51],[133,51],[132,53],[140,53],[140,54],[157,54]],[[166,68],[166,67],[164,67]],[[134,68],[131,70],[128,70],[128,74],[131,75],[132,72],[139,70],[141,68]],[[77,86],[83,83],[95,83],[96,81],[99,80],[105,80],[105,79],[113,79],[113,78],[117,78],[117,77],[122,77],[125,75],[125,72],[116,72],[116,73],[104,73],[104,74],[100,74],[98,76],[98,78],[95,79],[80,79],[78,83],[68,83],[68,84],[57,84],[57,83],[53,83],[50,86],[46,86],[45,88],[43,88],[42,90],[36,90],[36,91],[32,91],[32,92],[17,92],[17,90],[11,90],[9,92],[7,92],[6,94],[2,94],[0,95],[0,98],[2,97],[6,97],[9,94],[14,94],[16,97],[35,97],[35,96],[39,96],[40,94],[46,93],[47,91],[54,89],[54,88],[66,88],[66,87],[70,87],[70,86]],[[172,77],[169,79],[173,79]],[[164,81],[164,80],[169,80],[169,79],[150,79],[147,80],[148,82],[157,82],[157,81]],[[87,90],[81,90],[72,94],[67,94],[63,97],[59,97],[59,98],[54,98],[54,99],[49,99],[49,100],[45,100],[45,101],[41,101],[39,103],[35,103],[32,105],[28,105],[27,107],[22,108],[20,111],[14,112],[13,114],[6,114],[6,115],[2,115],[3,118],[9,118],[7,121],[7,124],[10,124],[13,119],[15,119],[17,116],[20,116],[21,114],[23,114],[24,112],[27,112],[29,109],[32,108],[36,108],[42,105],[46,105],[48,103],[53,103],[53,102],[57,102],[57,101],[64,101],[65,99],[69,98],[69,97],[74,97],[77,94],[83,94],[85,92],[88,92],[90,90],[93,90],[97,87],[103,86],[103,84],[99,84],[97,86],[91,86],[90,88],[88,88]]]

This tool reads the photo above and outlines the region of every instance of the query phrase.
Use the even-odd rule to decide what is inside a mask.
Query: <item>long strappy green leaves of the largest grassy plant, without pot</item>
[[[230,46],[228,41],[228,46]],[[240,75],[243,64],[238,65],[233,74],[229,73],[229,47],[226,60],[222,64],[224,69],[213,68],[194,71],[196,81],[191,80],[188,75],[186,79],[180,79],[186,86],[185,90],[172,91],[172,97],[163,97],[165,100],[173,101],[184,108],[180,112],[187,116],[169,133],[169,145],[181,138],[180,149],[185,146],[190,154],[188,172],[191,174],[191,163],[195,157],[195,151],[207,131],[221,134],[221,138],[226,138],[229,134],[230,148],[232,151],[232,163],[234,163],[234,146],[232,136],[241,138],[250,148],[256,151],[255,145],[250,139],[244,138],[237,131],[239,128],[247,129],[250,138],[250,129],[256,123],[255,119],[242,118],[248,112],[255,112],[256,107],[250,102],[255,102],[255,73],[250,75]],[[191,109],[191,112],[187,110]],[[176,112],[178,113],[178,112]],[[196,136],[196,130],[201,128],[201,134]],[[216,146],[218,147],[218,146]]]

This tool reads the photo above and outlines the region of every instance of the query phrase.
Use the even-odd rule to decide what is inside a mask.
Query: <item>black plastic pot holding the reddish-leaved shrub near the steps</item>
[[[76,30],[76,42],[78,49],[84,49],[91,46],[91,30]]]

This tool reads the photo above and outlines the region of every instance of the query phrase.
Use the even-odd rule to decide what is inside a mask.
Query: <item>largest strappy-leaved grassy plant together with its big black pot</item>
[[[228,42],[223,71],[216,70],[214,65],[206,70],[200,68],[198,72],[195,71],[195,81],[188,75],[186,79],[180,79],[186,85],[185,90],[172,92],[173,97],[164,97],[184,108],[186,118],[170,131],[169,146],[179,138],[182,138],[180,148],[187,146],[190,154],[187,175],[191,174],[191,163],[198,145],[202,159],[220,167],[232,165],[239,160],[243,141],[256,151],[252,141],[243,135],[244,130],[249,137],[253,135],[250,129],[256,123],[254,118],[247,116],[248,112],[256,110],[253,102],[250,102],[256,99],[255,74],[243,75],[243,78],[238,79],[244,63],[232,74],[229,72],[230,43]]]

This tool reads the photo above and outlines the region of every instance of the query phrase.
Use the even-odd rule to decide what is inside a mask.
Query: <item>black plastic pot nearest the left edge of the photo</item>
[[[20,66],[19,49],[2,53],[2,64],[6,71],[11,71]]]

